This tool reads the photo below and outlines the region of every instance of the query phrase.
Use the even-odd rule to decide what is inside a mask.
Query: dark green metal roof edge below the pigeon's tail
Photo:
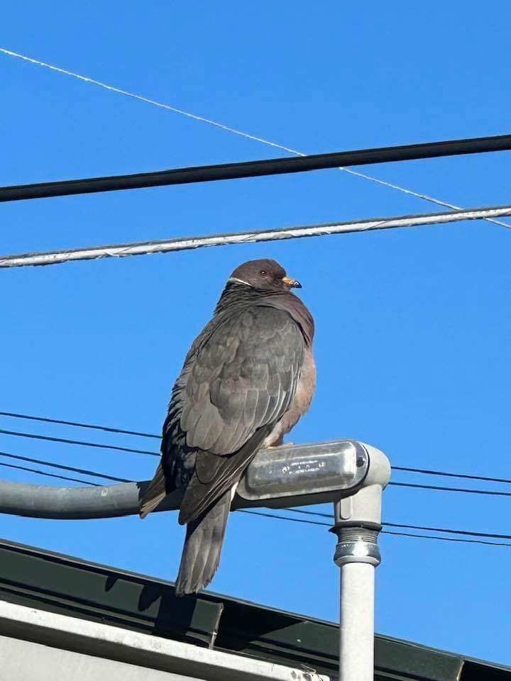
[[[218,594],[177,598],[172,582],[0,541],[0,599],[336,676],[331,622]],[[511,668],[375,638],[375,680],[511,681]]]

